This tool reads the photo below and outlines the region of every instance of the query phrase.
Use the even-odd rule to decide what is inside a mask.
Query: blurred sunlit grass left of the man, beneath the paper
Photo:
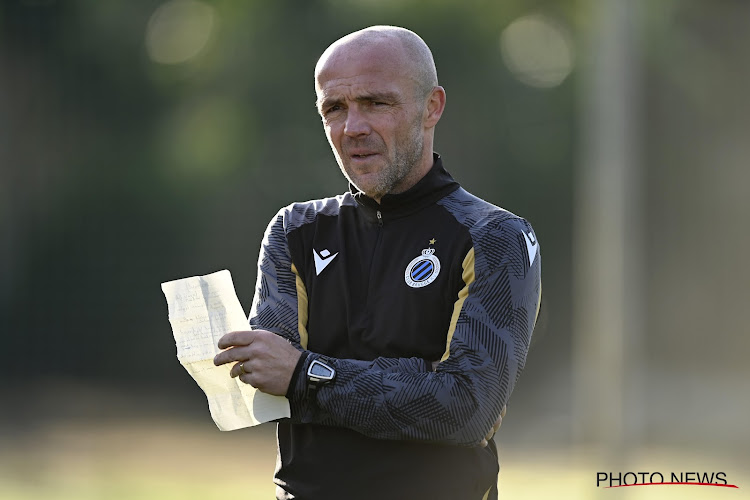
[[[222,433],[166,421],[57,424],[0,451],[0,498],[274,497],[272,426]]]

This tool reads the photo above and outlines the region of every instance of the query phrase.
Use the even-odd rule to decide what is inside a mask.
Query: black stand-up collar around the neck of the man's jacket
[[[380,203],[365,195],[353,184],[349,184],[349,191],[357,204],[364,209],[367,218],[372,221],[378,220],[377,212],[381,213],[383,222],[412,214],[461,187],[443,168],[440,155],[432,153],[432,158],[432,168],[419,182],[403,193],[383,196]]]

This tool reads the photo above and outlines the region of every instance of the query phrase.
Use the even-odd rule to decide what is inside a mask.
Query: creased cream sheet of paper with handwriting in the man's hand
[[[177,359],[206,393],[219,429],[232,431],[290,416],[285,397],[230,377],[232,364],[214,366],[221,336],[250,329],[229,271],[168,281],[161,289],[169,306]]]

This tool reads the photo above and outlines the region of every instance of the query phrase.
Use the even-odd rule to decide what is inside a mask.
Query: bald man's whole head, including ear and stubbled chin
[[[380,201],[429,171],[445,91],[415,33],[373,26],[337,40],[318,60],[315,91],[336,161],[365,194]]]

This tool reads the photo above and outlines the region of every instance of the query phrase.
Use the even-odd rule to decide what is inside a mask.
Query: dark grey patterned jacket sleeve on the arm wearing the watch
[[[455,328],[436,370],[413,358],[327,358],[337,371],[335,383],[323,386],[313,401],[299,377],[290,391],[293,414],[378,439],[481,442],[525,364],[541,299],[541,257],[531,226],[521,218],[489,214],[471,234],[466,293],[459,296]],[[307,356],[304,371],[318,357]]]

